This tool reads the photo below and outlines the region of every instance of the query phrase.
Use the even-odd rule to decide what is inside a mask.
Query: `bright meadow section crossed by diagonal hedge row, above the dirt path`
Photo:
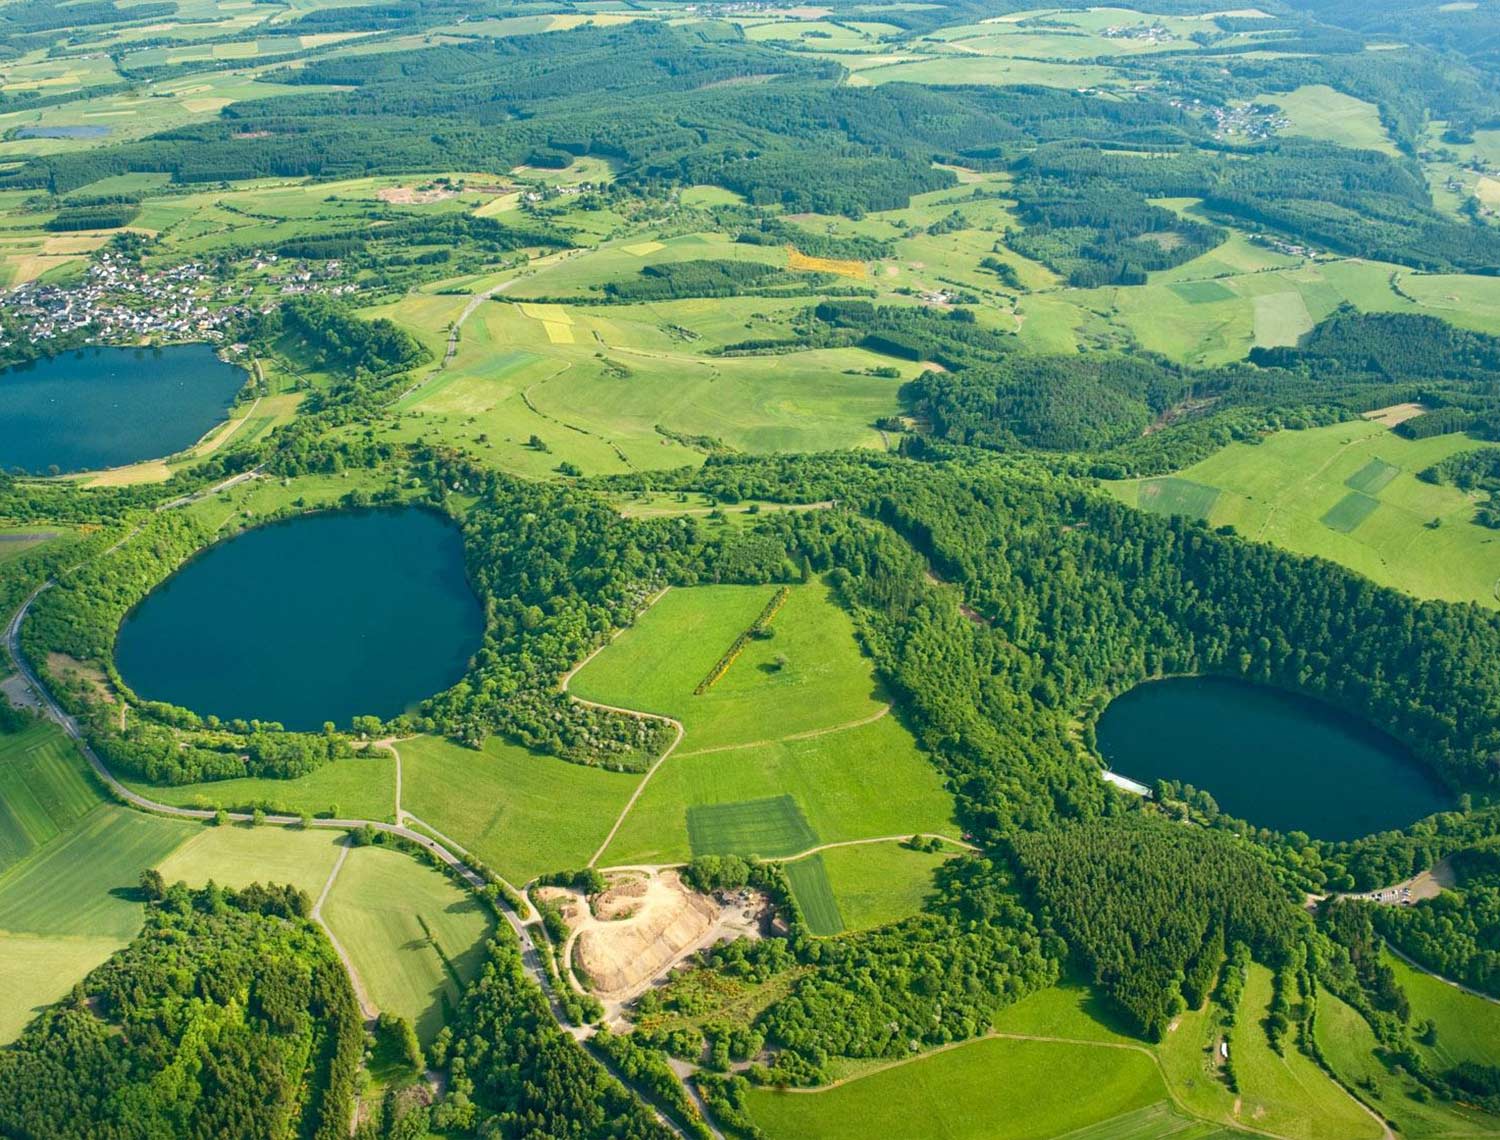
[[[792,586],[771,638],[750,640],[706,693],[693,690],[777,586],[669,590],[572,681],[606,705],[682,722],[681,754],[782,740],[864,720],[885,704],[854,639],[849,615],[826,586]]]

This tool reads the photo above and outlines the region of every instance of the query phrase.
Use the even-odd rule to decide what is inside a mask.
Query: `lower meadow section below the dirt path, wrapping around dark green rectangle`
[[[774,711],[768,711],[774,720]],[[690,808],[789,795],[820,843],[952,834],[952,800],[894,718],[804,740],[672,754],[651,777],[600,862],[686,862]],[[766,852],[760,852],[766,854]]]

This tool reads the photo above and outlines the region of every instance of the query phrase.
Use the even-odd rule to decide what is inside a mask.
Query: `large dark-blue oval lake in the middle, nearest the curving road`
[[[346,728],[454,684],[483,628],[462,537],[442,516],[321,512],[195,556],[120,626],[116,664],[146,700]]]

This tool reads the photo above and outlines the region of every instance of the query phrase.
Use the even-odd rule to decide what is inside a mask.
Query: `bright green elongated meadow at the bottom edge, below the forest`
[[[750,1113],[771,1140],[1020,1140],[1137,1113],[1166,1092],[1144,1050],[992,1038],[828,1090],[756,1089]]]

